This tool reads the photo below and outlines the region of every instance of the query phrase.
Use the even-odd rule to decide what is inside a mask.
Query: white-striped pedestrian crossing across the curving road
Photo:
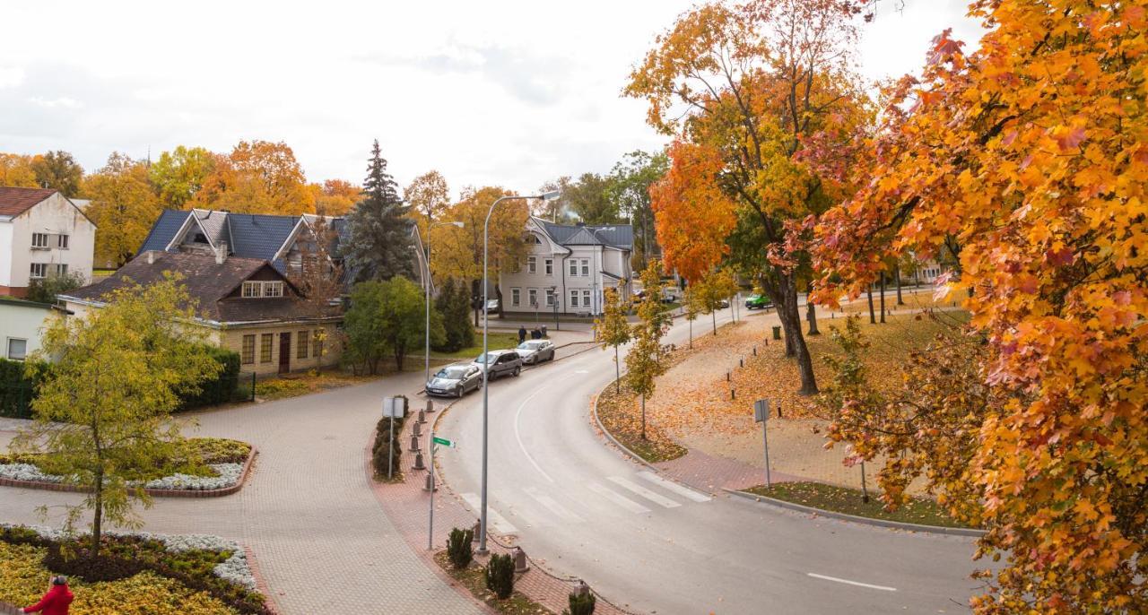
[[[515,522],[527,527],[568,526],[585,523],[587,519],[600,521],[603,514],[611,511],[614,514],[641,515],[658,509],[680,509],[713,499],[653,472],[606,476],[602,481],[585,482],[582,486],[585,491],[529,485],[492,490],[487,520],[495,531],[515,534]],[[461,498],[478,514],[481,498],[476,493],[461,493]]]

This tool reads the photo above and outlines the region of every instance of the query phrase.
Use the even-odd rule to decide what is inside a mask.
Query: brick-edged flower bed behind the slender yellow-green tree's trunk
[[[181,491],[220,496],[233,493],[246,477],[253,454],[251,445],[246,442],[191,438],[187,441],[187,456],[194,459],[172,460],[169,468],[173,472],[146,481],[142,486],[153,496],[179,495]],[[37,465],[37,457],[0,454],[0,484],[70,488],[64,476],[42,472]]]

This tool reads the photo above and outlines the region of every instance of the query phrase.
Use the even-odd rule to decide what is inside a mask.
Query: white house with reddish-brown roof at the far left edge
[[[60,192],[0,186],[0,295],[53,274],[91,280],[94,250],[95,225]]]

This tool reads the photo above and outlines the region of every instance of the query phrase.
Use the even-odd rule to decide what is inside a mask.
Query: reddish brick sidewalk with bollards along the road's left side
[[[411,546],[411,550],[418,554],[424,562],[427,563],[429,568],[435,570],[444,582],[455,586],[459,592],[470,595],[468,590],[459,586],[455,581],[443,571],[439,565],[434,561],[434,553],[441,551],[447,546],[447,537],[450,535],[452,528],[470,528],[474,526],[476,517],[473,513],[468,512],[461,504],[461,501],[455,496],[447,485],[441,475],[436,478],[439,484],[439,490],[435,492],[434,503],[434,550],[427,548],[427,524],[429,515],[429,493],[425,490],[427,470],[416,470],[414,467],[416,453],[410,451],[411,445],[411,431],[416,423],[418,417],[418,408],[426,404],[425,398],[413,398],[411,400],[413,414],[411,419],[408,419],[406,423],[403,426],[403,434],[400,438],[400,443],[403,446],[402,453],[402,468],[403,468],[403,481],[401,483],[373,483],[374,493],[382,505],[382,509],[390,517],[391,522],[395,524],[395,529],[398,530],[400,535],[406,540]],[[442,415],[442,411],[449,407],[449,403],[437,402],[435,403],[435,412],[427,415],[427,422],[422,425],[422,435],[419,438],[419,445],[422,453],[426,456],[424,462],[429,460],[427,454],[427,441],[429,439],[430,427],[434,421]],[[413,419],[413,420],[412,420]],[[364,457],[366,459],[366,472],[371,473],[370,464],[370,443],[367,444],[367,450],[364,451]],[[450,451],[440,450],[439,454],[450,454]],[[515,536],[497,536],[494,532],[488,534],[488,547],[491,553],[509,553],[511,547],[521,546],[527,554],[529,554],[529,545],[519,544]],[[476,546],[475,546],[476,548]],[[486,558],[475,554],[475,560],[479,563],[483,563]],[[526,594],[532,600],[543,605],[551,612],[558,614],[563,609],[568,607],[568,595],[571,591],[574,590],[577,579],[572,577],[566,577],[565,575],[553,573],[537,563],[532,562],[530,569],[526,573],[519,575],[515,581],[514,589],[519,592]],[[475,599],[476,604],[481,604]],[[489,607],[482,605],[488,612],[491,612]],[[600,595],[598,597],[598,604],[595,608],[596,615],[623,615],[627,612],[615,608],[613,605],[606,602]]]

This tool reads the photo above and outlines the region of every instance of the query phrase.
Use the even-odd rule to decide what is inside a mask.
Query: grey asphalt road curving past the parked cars
[[[684,342],[685,325],[667,342]],[[591,350],[491,383],[491,531],[649,613],[959,613],[979,593],[971,538],[701,493],[625,459],[603,444],[588,408],[613,377],[612,359]],[[481,404],[471,395],[439,426],[458,442],[437,456],[444,480],[472,509]]]

